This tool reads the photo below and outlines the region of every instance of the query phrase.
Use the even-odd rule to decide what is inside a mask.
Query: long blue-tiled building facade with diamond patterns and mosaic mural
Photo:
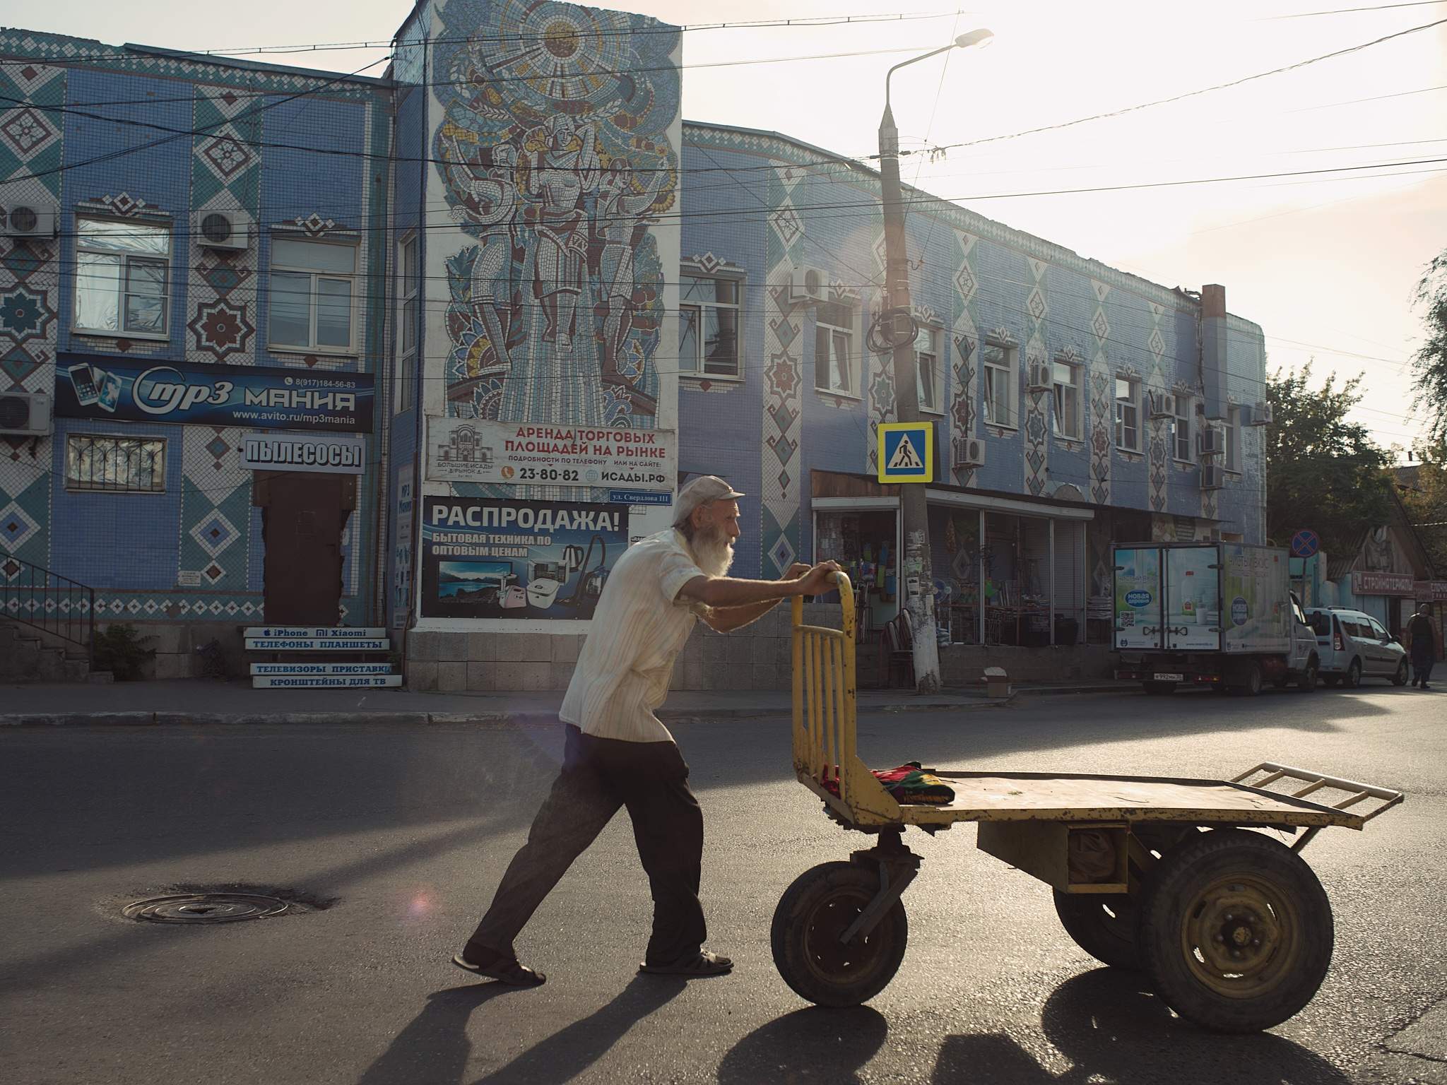
[[[6,32],[0,205],[54,204],[59,221],[48,237],[0,231],[0,391],[49,392],[72,366],[136,359],[375,378],[339,616],[412,631],[423,687],[557,684],[587,629],[583,612],[527,610],[521,625],[428,613],[437,502],[608,499],[430,477],[430,420],[677,431],[680,477],[722,473],[750,495],[735,573],[777,576],[854,532],[886,616],[897,547],[880,518],[897,499],[870,482],[875,427],[894,418],[887,359],[867,346],[884,278],[877,178],[777,133],[683,122],[679,41],[570,4],[424,0],[388,78],[369,80]],[[1210,288],[1166,289],[906,198],[939,448],[935,576],[942,597],[977,603],[956,608],[956,639],[1042,644],[987,622],[987,602],[1027,610],[1026,596],[1074,622],[1043,644],[1085,641],[1113,538],[1262,541],[1257,326]],[[198,216],[216,210],[247,224],[245,247],[201,242]],[[136,302],[149,333],[81,323],[84,221],[164,239],[162,315],[155,285]],[[350,263],[298,268],[307,244]],[[276,341],[272,314],[298,275],[313,291],[300,347]],[[340,346],[321,341],[339,304],[337,286],[318,301],[323,281],[346,284]],[[1200,441],[1217,428],[1213,454]],[[4,554],[54,569],[94,586],[101,616],[172,639],[260,622],[246,433],[58,417],[48,437],[0,437],[0,573]],[[162,443],[150,492],[67,485],[71,438],[117,434]],[[586,571],[564,570],[560,596],[576,600]],[[776,650],[734,663],[777,678]]]

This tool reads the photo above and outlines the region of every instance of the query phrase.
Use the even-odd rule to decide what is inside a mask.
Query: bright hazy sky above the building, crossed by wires
[[[887,7],[880,0],[616,6],[686,26],[868,17]],[[242,10],[245,19],[237,17]],[[243,9],[49,0],[27,7],[23,17],[35,30],[203,51],[386,42],[408,10],[405,0],[249,0]],[[929,17],[909,17],[915,14]],[[1315,357],[1321,376],[1365,372],[1357,421],[1382,444],[1412,441],[1420,425],[1408,417],[1408,359],[1422,327],[1411,295],[1427,262],[1447,249],[1447,22],[1230,90],[1061,130],[993,137],[1447,20],[1447,3],[985,0],[956,12],[949,0],[910,0],[906,16],[689,32],[683,114],[773,129],[844,155],[873,153],[886,69],[958,33],[990,27],[990,48],[945,54],[896,75],[894,114],[906,149],[988,140],[935,161],[907,156],[907,182],[1166,286],[1224,284],[1231,312],[1263,327],[1270,369]],[[385,48],[265,59],[355,71],[383,55]],[[757,62],[764,59],[777,62]],[[379,64],[368,72],[383,69]],[[1369,168],[984,198],[1343,166]]]

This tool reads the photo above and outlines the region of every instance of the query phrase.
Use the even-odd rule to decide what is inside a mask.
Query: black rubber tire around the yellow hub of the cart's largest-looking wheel
[[[1187,963],[1188,909],[1201,904],[1213,881],[1249,875],[1272,882],[1298,913],[1294,945],[1278,952],[1295,961],[1265,995],[1231,998],[1207,987]],[[1160,1000],[1202,1029],[1255,1033],[1295,1016],[1312,1000],[1331,966],[1331,903],[1311,868],[1291,848],[1244,829],[1217,829],[1172,849],[1142,890],[1136,940],[1142,966]],[[1194,961],[1192,955],[1192,961]]]

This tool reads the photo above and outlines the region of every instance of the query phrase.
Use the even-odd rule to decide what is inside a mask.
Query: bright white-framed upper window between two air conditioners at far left
[[[171,227],[75,220],[75,330],[165,339]]]

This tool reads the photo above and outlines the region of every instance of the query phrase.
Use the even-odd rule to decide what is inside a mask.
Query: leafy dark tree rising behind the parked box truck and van
[[[1301,528],[1327,554],[1346,557],[1363,529],[1386,524],[1392,508],[1391,454],[1346,415],[1362,399],[1362,375],[1311,386],[1311,363],[1266,378],[1266,534],[1285,544]]]

